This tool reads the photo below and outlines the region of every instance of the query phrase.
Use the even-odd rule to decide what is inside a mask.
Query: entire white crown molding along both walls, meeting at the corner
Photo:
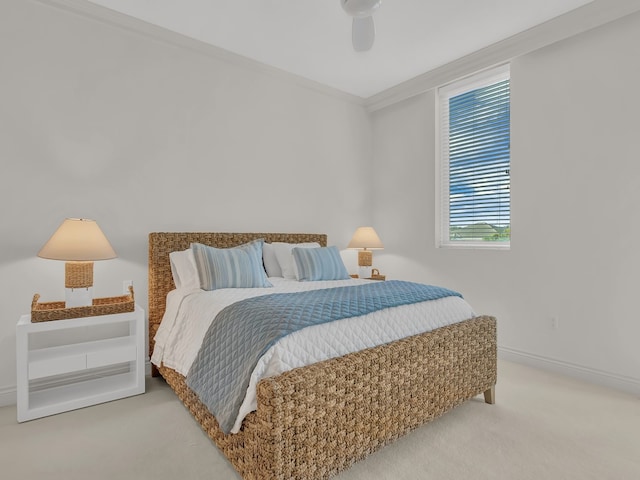
[[[453,62],[435,68],[366,99],[351,95],[313,80],[294,75],[219,47],[152,25],[143,20],[110,10],[88,0],[32,0],[57,10],[77,14],[121,28],[254,73],[268,75],[316,93],[363,106],[373,113],[394,103],[419,95],[453,80],[509,62],[513,58],[591,30],[640,11],[640,0],[594,0],[503,41],[485,47]]]

